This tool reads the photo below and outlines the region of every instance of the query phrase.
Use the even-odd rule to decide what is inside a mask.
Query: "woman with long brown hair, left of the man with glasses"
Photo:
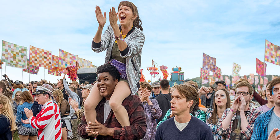
[[[215,140],[223,140],[222,135],[217,131],[217,123],[223,112],[230,107],[231,100],[228,92],[225,89],[220,89],[214,94],[213,109],[199,107],[200,110],[206,112],[206,124],[208,124],[208,126],[212,129]]]

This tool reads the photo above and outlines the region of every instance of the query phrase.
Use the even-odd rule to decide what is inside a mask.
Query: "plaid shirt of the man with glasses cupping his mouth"
[[[231,132],[232,132],[232,122],[236,117],[236,114],[233,115],[232,119],[231,119],[231,123],[229,125],[228,128],[223,129],[222,127],[222,121],[226,118],[226,116],[228,115],[228,113],[231,111],[231,108],[228,108],[224,111],[222,117],[219,119],[218,122],[218,128],[217,131],[218,133],[224,135],[226,137],[227,140],[231,139]],[[248,121],[248,126],[246,127],[245,130],[241,129],[241,133],[243,136],[243,139],[250,139],[252,137],[252,133],[253,133],[253,128],[254,128],[254,122],[257,119],[257,117],[262,114],[263,111],[258,110],[253,108],[251,105],[249,105],[249,109],[247,110],[247,114],[246,114],[246,118]],[[241,124],[242,125],[242,124]]]

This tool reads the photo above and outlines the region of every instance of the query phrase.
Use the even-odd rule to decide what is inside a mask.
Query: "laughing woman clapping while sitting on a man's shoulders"
[[[110,25],[101,36],[106,23],[106,12],[103,16],[98,6],[96,6],[95,12],[99,26],[91,49],[94,52],[106,50],[105,63],[114,65],[121,75],[109,104],[122,127],[129,126],[128,113],[121,104],[130,94],[135,94],[140,86],[141,53],[145,41],[145,35],[142,33],[142,21],[139,18],[137,7],[132,2],[120,2],[117,12],[114,7],[110,9]],[[94,108],[103,98],[100,96],[100,92],[107,92],[107,90],[105,87],[97,87],[95,84],[85,100],[84,112],[87,123],[95,122],[96,111]]]

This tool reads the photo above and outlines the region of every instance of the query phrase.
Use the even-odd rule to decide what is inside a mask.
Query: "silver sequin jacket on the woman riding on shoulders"
[[[131,89],[131,94],[133,95],[138,91],[137,83],[140,80],[141,54],[145,41],[145,35],[140,29],[134,27],[132,33],[126,36],[124,40],[128,46],[128,53],[124,56],[120,54],[120,56],[126,58],[126,74],[128,77],[129,87]],[[111,25],[109,25],[107,30],[105,30],[104,34],[101,36],[101,47],[94,48],[91,45],[91,49],[97,53],[107,49],[105,63],[108,63],[115,41],[116,39],[113,28]]]

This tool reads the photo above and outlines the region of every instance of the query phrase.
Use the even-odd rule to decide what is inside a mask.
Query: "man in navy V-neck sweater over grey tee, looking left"
[[[210,127],[189,114],[198,103],[198,91],[191,85],[174,87],[170,103],[175,116],[159,125],[156,130],[156,140],[214,140]]]

